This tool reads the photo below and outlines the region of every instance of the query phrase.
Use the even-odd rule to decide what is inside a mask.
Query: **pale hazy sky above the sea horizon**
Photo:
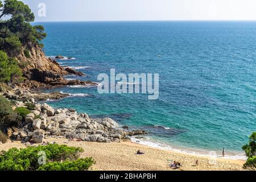
[[[256,0],[23,0],[37,21],[256,20]],[[38,16],[38,5],[46,16]],[[41,12],[42,13],[42,12]]]

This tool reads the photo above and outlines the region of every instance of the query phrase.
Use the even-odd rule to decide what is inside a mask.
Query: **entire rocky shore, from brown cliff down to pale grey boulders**
[[[87,142],[121,142],[133,135],[147,134],[143,130],[130,131],[121,127],[111,118],[90,118],[86,113],[77,113],[75,109],[53,109],[44,103],[47,100],[60,100],[69,94],[60,92],[45,93],[44,89],[51,89],[68,85],[97,86],[96,82],[81,80],[66,80],[67,75],[83,76],[72,68],[61,67],[55,59],[44,55],[39,47],[31,48],[30,57],[23,51],[17,57],[24,81],[9,84],[10,90],[0,93],[11,100],[17,107],[27,109],[19,126],[9,127],[7,135],[11,140],[19,140],[26,145],[43,143],[46,138],[67,138]]]

